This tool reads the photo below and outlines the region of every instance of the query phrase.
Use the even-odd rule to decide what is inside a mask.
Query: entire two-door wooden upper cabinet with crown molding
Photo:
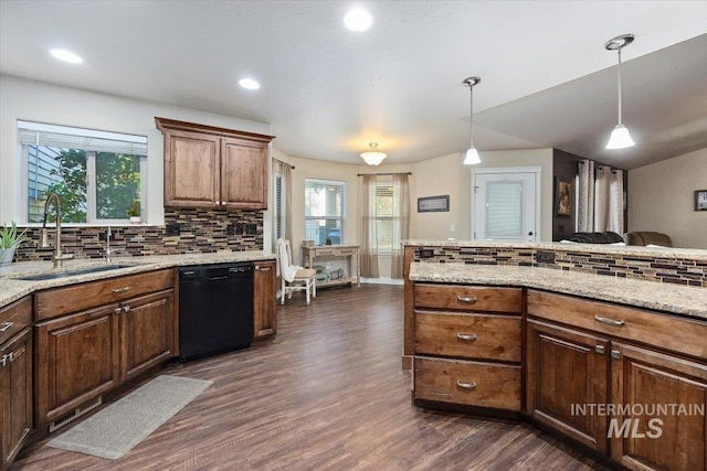
[[[165,206],[267,210],[273,136],[155,121],[165,136]]]

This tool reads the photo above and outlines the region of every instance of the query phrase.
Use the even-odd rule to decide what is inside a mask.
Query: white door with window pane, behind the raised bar
[[[482,170],[482,169],[479,169]],[[475,240],[535,242],[539,170],[484,169],[472,179]]]

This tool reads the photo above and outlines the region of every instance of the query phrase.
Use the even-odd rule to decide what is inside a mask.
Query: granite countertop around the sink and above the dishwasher
[[[21,261],[0,268],[0,307],[9,304],[40,289],[55,288],[77,282],[93,281],[104,278],[120,277],[143,271],[172,268],[189,265],[223,264],[231,261],[275,260],[274,254],[262,250],[221,251],[213,254],[155,255],[149,257],[114,257],[112,264],[105,260],[65,260],[63,268],[53,268],[51,261]],[[32,275],[51,272],[71,272],[106,265],[120,265],[107,271],[72,275],[48,280],[28,281],[17,279]]]

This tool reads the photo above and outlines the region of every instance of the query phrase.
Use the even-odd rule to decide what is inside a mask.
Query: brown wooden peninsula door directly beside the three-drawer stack
[[[528,414],[574,440],[606,452],[606,416],[581,406],[606,403],[608,341],[528,320]]]

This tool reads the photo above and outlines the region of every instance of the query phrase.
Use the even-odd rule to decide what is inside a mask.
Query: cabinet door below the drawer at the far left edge
[[[32,330],[0,347],[2,469],[7,469],[32,430]]]

